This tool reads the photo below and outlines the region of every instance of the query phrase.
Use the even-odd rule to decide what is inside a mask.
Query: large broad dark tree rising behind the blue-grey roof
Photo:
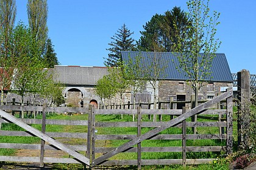
[[[180,7],[174,7],[164,15],[155,14],[146,25],[143,25],[143,32],[137,42],[138,49],[141,51],[155,51],[155,43],[162,52],[172,52],[175,44],[180,43],[180,38],[184,37],[188,21],[185,12]]]

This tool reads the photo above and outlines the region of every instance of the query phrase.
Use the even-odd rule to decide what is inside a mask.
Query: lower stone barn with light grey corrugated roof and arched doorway
[[[107,75],[107,67],[54,66],[57,82],[65,85],[65,104],[73,107],[98,107],[100,98],[93,92],[99,79]],[[81,102],[82,101],[82,102]]]

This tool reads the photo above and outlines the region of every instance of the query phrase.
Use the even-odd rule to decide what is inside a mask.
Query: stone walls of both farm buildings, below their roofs
[[[162,101],[169,101],[170,98],[177,100],[177,97],[185,97],[186,101],[191,100],[191,95],[194,95],[193,89],[190,83],[186,81],[169,81],[161,80],[158,81],[158,88],[156,89],[157,99],[162,98]],[[232,83],[203,83],[201,89],[199,90],[199,100],[207,100],[218,95],[221,87],[232,87]],[[70,92],[71,89],[78,89],[78,92]],[[149,95],[151,102],[154,101],[154,90],[152,89],[150,83],[147,83],[146,89],[143,89],[144,93]],[[65,89],[66,98],[65,104],[72,104],[74,107],[80,107],[80,101],[84,101],[84,107],[88,107],[90,101],[96,101],[98,103],[104,103],[108,105],[108,100],[102,100],[97,95],[94,94],[94,87],[66,87]],[[124,94],[123,103],[127,104],[128,101],[132,103],[132,95],[130,92]],[[147,101],[143,101],[147,102]],[[120,104],[121,99],[119,95],[110,100],[110,104]]]

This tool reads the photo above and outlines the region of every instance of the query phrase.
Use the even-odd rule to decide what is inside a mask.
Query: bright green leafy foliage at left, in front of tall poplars
[[[12,50],[18,63],[14,70],[12,90],[21,95],[22,101],[26,92],[52,98],[55,102],[63,100],[62,86],[54,83],[51,70],[43,69],[40,47],[23,23],[19,23],[13,30]]]

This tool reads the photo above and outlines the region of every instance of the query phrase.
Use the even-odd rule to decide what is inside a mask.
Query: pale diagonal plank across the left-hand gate
[[[86,165],[90,164],[90,160],[85,157],[82,154],[79,154],[71,149],[69,149],[65,144],[60,143],[57,140],[54,140],[53,138],[49,137],[48,135],[43,134],[42,132],[38,131],[32,126],[29,126],[28,124],[24,123],[23,121],[18,120],[17,118],[13,117],[12,115],[4,112],[3,110],[0,110],[0,115],[4,118],[7,118],[7,120],[12,121],[13,123],[17,124],[18,126],[22,127],[23,129],[31,132],[32,134],[36,135],[37,137],[40,137],[44,141],[47,141],[57,148],[61,149],[62,151],[67,152],[68,154],[72,155],[73,157],[77,158],[78,160],[82,161]]]

